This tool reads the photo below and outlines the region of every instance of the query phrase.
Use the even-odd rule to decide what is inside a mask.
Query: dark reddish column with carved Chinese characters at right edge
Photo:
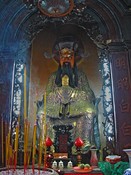
[[[123,148],[131,148],[131,74],[130,50],[123,43],[109,46],[113,89],[116,152],[123,155]]]

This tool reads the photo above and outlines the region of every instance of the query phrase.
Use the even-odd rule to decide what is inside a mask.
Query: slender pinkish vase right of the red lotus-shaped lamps
[[[90,151],[91,151],[90,165],[93,168],[96,168],[98,167],[97,149],[90,149]]]

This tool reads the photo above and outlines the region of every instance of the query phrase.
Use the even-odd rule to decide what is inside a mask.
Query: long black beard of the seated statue
[[[74,64],[74,67],[71,67],[69,62],[65,62],[63,66],[59,65],[55,83],[57,86],[62,86],[62,77],[67,75],[69,77],[69,86],[72,88],[77,87],[78,85],[78,74],[77,74],[77,66]]]

